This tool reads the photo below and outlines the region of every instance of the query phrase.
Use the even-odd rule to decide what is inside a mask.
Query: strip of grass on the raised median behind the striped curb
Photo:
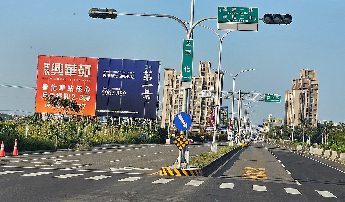
[[[200,166],[200,167],[205,166],[209,162],[214,161],[216,158],[220,157],[221,155],[223,155],[224,153],[230,150],[235,149],[236,147],[239,147],[239,145],[235,145],[233,147],[231,146],[221,147],[217,149],[218,153],[209,153],[209,152],[200,153],[199,155],[190,158],[189,163],[193,166]]]

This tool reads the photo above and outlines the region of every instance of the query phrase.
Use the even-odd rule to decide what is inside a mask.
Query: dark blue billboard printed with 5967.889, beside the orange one
[[[159,61],[98,59],[96,116],[156,119]]]

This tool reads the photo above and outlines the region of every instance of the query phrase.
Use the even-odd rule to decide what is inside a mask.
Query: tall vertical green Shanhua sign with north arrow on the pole
[[[183,40],[181,88],[192,89],[193,39]]]

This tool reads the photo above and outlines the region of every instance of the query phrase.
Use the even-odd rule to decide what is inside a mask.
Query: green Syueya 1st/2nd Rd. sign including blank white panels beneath
[[[218,30],[258,31],[259,8],[218,7]]]

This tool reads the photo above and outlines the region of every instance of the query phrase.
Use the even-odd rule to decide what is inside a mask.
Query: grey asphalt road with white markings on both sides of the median
[[[176,152],[176,148],[171,146],[152,146],[157,147],[140,148],[142,145],[131,145],[104,150],[99,148],[99,150],[67,152],[68,155],[75,152],[76,156],[68,156],[65,152],[55,152],[53,154],[37,154],[41,155],[39,156],[40,160],[26,157],[30,155],[20,156],[20,158],[58,166],[61,163],[57,163],[57,161],[43,163],[49,159],[42,159],[56,155],[52,159],[80,160],[66,164],[89,163],[93,166],[94,164],[87,161],[88,158],[86,157],[97,158],[95,162],[108,163],[109,160],[125,158],[131,162],[132,159],[135,159],[133,161],[142,160],[136,155],[146,155],[144,157],[156,160],[165,159],[165,157],[159,156],[161,154],[157,152],[164,154],[170,150]],[[206,151],[210,149],[209,146],[199,147],[203,145],[198,144],[195,146],[194,148],[191,147],[191,152],[194,155],[197,149]],[[124,148],[132,150],[124,150]],[[152,148],[156,151],[152,151]],[[82,154],[96,151],[109,152],[92,155]],[[134,151],[137,153],[129,155]],[[155,153],[157,154],[155,155]],[[176,153],[169,157],[172,161],[175,161]],[[114,164],[112,167],[119,168],[128,165],[128,163],[124,163],[126,161],[122,160],[123,164],[118,166]],[[29,162],[2,161],[1,163],[29,164]],[[36,163],[31,163],[31,167],[3,167],[1,165],[0,201],[345,201],[344,164],[271,145],[268,142],[253,142],[252,145],[240,150],[217,170],[208,173],[206,177],[159,176],[148,174],[147,170],[144,170],[146,172],[142,174],[131,174],[135,169],[117,172],[106,168],[104,168],[105,171],[96,167],[88,168],[89,166],[80,167],[80,169],[36,168],[33,166],[34,164]],[[141,168],[154,168],[147,165],[143,164]],[[106,166],[108,167],[108,164]],[[155,170],[149,171],[153,173]]]

